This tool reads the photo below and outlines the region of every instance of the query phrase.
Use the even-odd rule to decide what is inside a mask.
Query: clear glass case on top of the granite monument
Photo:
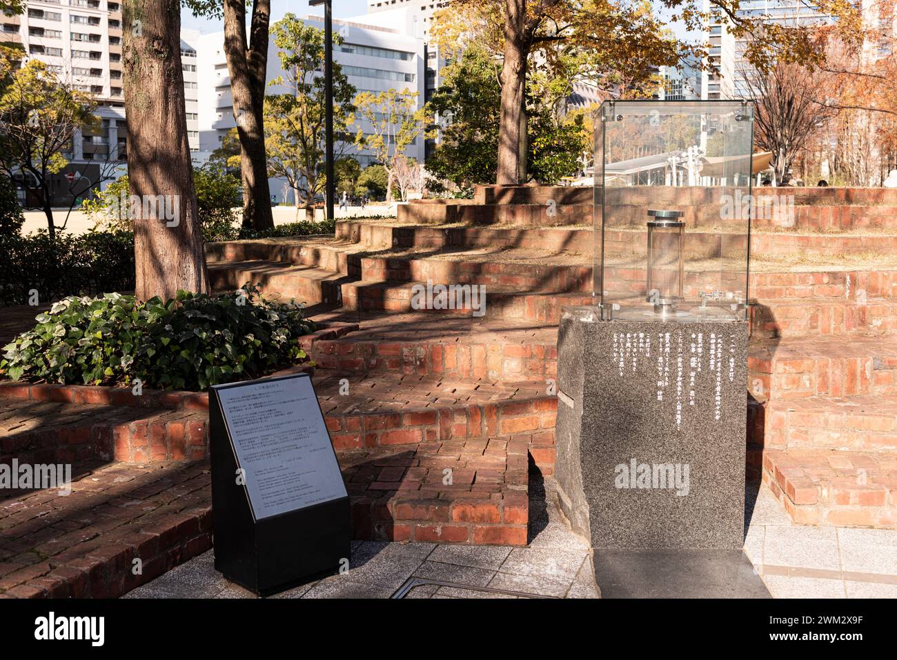
[[[753,105],[605,101],[594,295],[605,320],[744,321]]]

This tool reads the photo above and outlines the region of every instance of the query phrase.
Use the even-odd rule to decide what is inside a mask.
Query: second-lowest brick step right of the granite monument
[[[762,448],[894,455],[897,395],[812,396],[748,405],[749,440]]]

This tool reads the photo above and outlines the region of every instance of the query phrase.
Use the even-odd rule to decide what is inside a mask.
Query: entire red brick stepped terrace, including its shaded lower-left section
[[[649,201],[624,194],[634,223]],[[744,239],[681,194],[698,254]],[[592,195],[485,187],[335,236],[206,246],[216,288],[259,282],[326,325],[303,345],[357,538],[527,543],[529,472],[553,472],[561,308],[592,300]],[[897,527],[897,195],[795,195],[790,226],[751,236],[747,469],[798,523]],[[634,229],[605,232],[608,248]],[[483,284],[485,313],[413,309],[428,281]],[[72,496],[0,502],[0,597],[120,595],[205,551],[206,409],[201,393],[0,384],[0,461],[87,466]]]

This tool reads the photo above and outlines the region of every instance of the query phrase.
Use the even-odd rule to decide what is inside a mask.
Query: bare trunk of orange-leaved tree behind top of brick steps
[[[520,182],[520,116],[527,87],[529,48],[524,34],[527,21],[526,0],[505,0],[505,6],[507,16],[504,25],[499,154],[495,182],[511,185]]]

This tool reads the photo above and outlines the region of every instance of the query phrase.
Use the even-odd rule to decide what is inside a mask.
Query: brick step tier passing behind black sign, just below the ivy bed
[[[334,446],[340,450],[434,440],[507,438],[528,433],[551,451],[534,458],[553,470],[557,399],[545,378],[440,378],[382,372],[314,375],[318,401]],[[0,460],[65,463],[100,459],[144,464],[208,456],[208,398],[190,408],[146,407],[83,401],[95,387],[0,388]],[[115,388],[103,388],[114,390]],[[129,393],[129,390],[118,390]],[[22,393],[18,393],[22,394]],[[48,396],[65,395],[65,401]],[[30,397],[29,397],[30,396]],[[51,420],[48,422],[48,420]]]

